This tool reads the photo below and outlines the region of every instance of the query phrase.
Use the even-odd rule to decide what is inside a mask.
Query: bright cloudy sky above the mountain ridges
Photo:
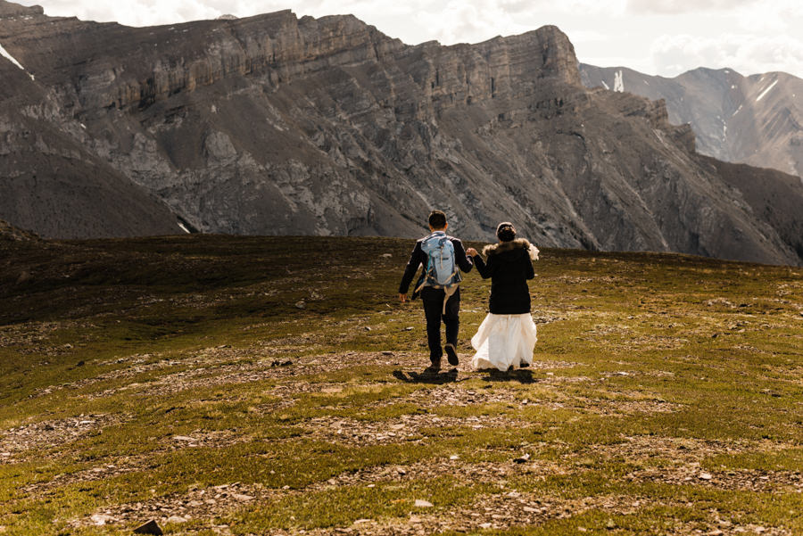
[[[14,1],[14,0],[12,0]],[[129,26],[247,17],[353,14],[416,45],[477,43],[553,24],[580,62],[674,77],[697,67],[803,78],[801,0],[16,0],[52,16]]]

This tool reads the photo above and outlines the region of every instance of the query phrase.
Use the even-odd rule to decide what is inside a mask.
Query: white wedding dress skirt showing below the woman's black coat
[[[471,337],[476,350],[471,366],[477,369],[508,370],[512,365],[533,364],[537,329],[530,313],[521,315],[488,314]]]

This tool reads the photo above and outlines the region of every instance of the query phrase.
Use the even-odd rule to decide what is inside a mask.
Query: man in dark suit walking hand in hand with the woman
[[[422,244],[427,238],[435,236],[443,236],[447,238],[454,248],[454,262],[459,269],[464,272],[470,272],[474,268],[474,262],[466,254],[463,249],[463,243],[458,238],[446,235],[446,228],[449,224],[446,221],[446,214],[441,210],[433,210],[429,215],[429,230],[432,235],[426,236],[416,243],[416,247],[410,254],[410,260],[407,263],[407,268],[404,269],[404,276],[402,276],[402,284],[399,285],[399,299],[404,303],[407,301],[407,291],[410,289],[410,282],[420,265],[424,265],[424,272],[426,273],[428,255],[422,249]],[[423,277],[422,280],[426,280]],[[437,369],[441,367],[441,357],[443,357],[443,350],[446,351],[446,356],[449,364],[456,367],[459,364],[457,355],[457,335],[460,326],[459,310],[460,310],[460,289],[457,286],[454,293],[447,296],[447,292],[443,288],[435,288],[424,284],[421,288],[421,301],[424,303],[424,316],[426,317],[426,341],[429,343],[429,360],[432,367]],[[415,294],[413,294],[415,297]],[[444,304],[443,301],[446,301]],[[441,349],[441,320],[446,326],[446,345]]]

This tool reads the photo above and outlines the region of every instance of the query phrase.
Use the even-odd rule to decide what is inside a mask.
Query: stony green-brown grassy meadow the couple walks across
[[[435,375],[412,245],[0,243],[0,534],[803,534],[803,268],[546,249]]]

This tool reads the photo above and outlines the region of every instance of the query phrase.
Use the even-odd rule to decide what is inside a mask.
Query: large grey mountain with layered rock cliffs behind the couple
[[[664,103],[584,87],[552,26],[411,46],[352,16],[127,28],[0,0],[0,45],[19,101],[0,119],[0,171],[38,166],[50,204],[15,206],[39,222],[69,162],[95,169],[93,187],[127,188],[160,229],[415,236],[436,206],[465,238],[492,239],[509,219],[544,246],[801,262]],[[39,132],[60,140],[60,161]],[[782,187],[803,201],[803,186]],[[82,217],[123,214],[114,202]]]

